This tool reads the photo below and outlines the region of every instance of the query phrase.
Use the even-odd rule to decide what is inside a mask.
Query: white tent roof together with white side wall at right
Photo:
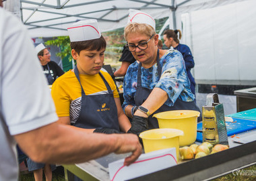
[[[193,52],[197,84],[256,84],[255,0],[7,0],[4,6],[20,14],[32,38],[66,36],[77,19],[98,19],[102,32],[124,27],[128,9],[169,17],[166,25],[181,29],[181,43]]]

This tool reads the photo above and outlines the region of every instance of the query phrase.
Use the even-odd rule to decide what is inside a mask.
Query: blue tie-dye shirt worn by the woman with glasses
[[[182,54],[177,50],[168,50],[160,58],[160,65],[162,66],[162,76],[159,81],[157,64],[151,68],[141,66],[141,86],[149,89],[162,88],[168,95],[168,99],[164,103],[168,106],[174,105],[177,99],[187,102],[193,101],[195,96],[190,90],[190,82]],[[123,82],[123,96],[125,98],[123,109],[127,105],[135,105],[138,66],[136,61],[127,69]]]

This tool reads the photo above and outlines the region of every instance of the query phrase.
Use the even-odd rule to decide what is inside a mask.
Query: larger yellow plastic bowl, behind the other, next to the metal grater
[[[199,111],[177,110],[153,115],[158,119],[159,128],[180,129],[184,135],[180,137],[180,146],[191,145],[197,138],[197,117]]]

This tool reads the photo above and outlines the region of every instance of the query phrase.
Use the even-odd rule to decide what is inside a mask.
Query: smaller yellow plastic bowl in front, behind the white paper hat
[[[179,136],[183,131],[179,129],[150,129],[139,134],[143,141],[145,153],[158,149],[176,147],[177,160],[179,158]]]

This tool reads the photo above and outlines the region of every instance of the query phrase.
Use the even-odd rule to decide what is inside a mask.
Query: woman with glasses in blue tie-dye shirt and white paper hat
[[[177,50],[158,50],[154,19],[141,11],[130,11],[124,36],[137,60],[129,66],[123,83],[123,109],[132,117],[131,124],[146,122],[142,128],[153,129],[158,128],[158,121],[152,118],[154,113],[199,111],[182,54]]]

